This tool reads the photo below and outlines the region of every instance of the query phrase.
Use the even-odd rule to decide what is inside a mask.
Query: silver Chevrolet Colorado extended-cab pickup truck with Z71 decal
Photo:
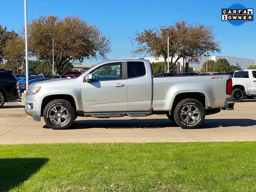
[[[144,59],[98,64],[78,78],[29,85],[25,111],[52,129],[77,116],[110,118],[166,114],[181,128],[200,127],[206,115],[234,109],[231,75],[154,77]]]

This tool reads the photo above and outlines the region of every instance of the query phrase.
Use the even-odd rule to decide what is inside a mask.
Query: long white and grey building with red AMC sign
[[[231,57],[231,56],[202,56],[202,57],[197,57],[197,58],[188,58],[188,59],[184,59],[184,58],[180,58],[177,61],[177,65],[178,66],[184,66],[184,64],[189,64],[189,67],[193,67],[194,71],[200,71],[202,65],[204,64],[204,62],[206,62],[207,60],[214,60],[215,62],[217,62],[218,59],[227,59],[228,62],[230,63],[230,65],[234,65],[237,66],[241,69],[247,69],[248,66],[250,65],[255,65],[255,60],[254,59],[245,59],[245,58],[237,58],[237,57]],[[164,61],[163,57],[160,58],[153,58],[153,57],[145,57],[145,59],[149,60],[151,63],[152,62],[162,62]],[[169,58],[169,61],[171,59]],[[173,58],[173,60],[176,60],[176,58]]]

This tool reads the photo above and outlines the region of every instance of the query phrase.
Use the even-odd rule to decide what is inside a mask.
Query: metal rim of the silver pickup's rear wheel
[[[194,105],[186,105],[180,112],[181,119],[187,124],[198,122],[200,117],[199,109]]]

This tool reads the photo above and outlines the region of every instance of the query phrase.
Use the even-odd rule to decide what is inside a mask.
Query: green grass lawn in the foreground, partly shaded
[[[0,145],[0,191],[256,191],[256,142]]]

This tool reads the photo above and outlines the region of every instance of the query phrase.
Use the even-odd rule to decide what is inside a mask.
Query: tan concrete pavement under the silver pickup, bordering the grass
[[[244,100],[231,111],[206,116],[200,129],[177,127],[165,115],[123,118],[78,117],[69,130],[34,122],[18,102],[0,110],[0,144],[60,142],[194,142],[256,140],[256,100]]]

